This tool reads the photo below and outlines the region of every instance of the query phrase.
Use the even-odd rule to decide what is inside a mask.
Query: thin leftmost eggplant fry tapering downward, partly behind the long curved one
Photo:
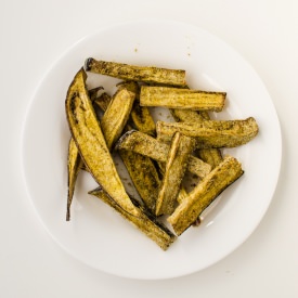
[[[68,171],[68,192],[67,192],[67,208],[66,208],[66,220],[70,220],[70,205],[74,197],[75,185],[77,177],[81,166],[83,165],[77,145],[73,138],[70,138],[68,144],[68,157],[67,157],[67,171]]]

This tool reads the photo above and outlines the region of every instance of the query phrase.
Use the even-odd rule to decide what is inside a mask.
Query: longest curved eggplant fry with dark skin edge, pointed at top
[[[70,83],[65,109],[69,129],[85,165],[94,180],[127,212],[139,216],[118,176],[107,148],[92,102],[86,88],[87,75],[81,68]]]

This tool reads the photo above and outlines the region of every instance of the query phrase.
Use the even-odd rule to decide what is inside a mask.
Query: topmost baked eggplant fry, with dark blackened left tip
[[[96,61],[93,57],[86,60],[87,72],[111,76],[124,80],[134,80],[171,86],[185,86],[185,70],[168,69],[154,66],[134,66],[124,63]]]

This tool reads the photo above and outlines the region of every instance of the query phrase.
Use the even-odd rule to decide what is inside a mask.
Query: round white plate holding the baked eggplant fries
[[[183,68],[192,88],[224,90],[220,118],[254,116],[260,133],[249,144],[225,150],[243,164],[245,174],[222,195],[204,223],[189,229],[163,251],[108,206],[87,194],[96,186],[78,179],[72,221],[65,221],[66,152],[69,131],[64,101],[86,57],[139,65]],[[91,76],[90,86],[113,91],[115,81]],[[112,83],[113,82],[113,83]],[[238,247],[256,229],[273,196],[281,165],[278,119],[262,81],[234,50],[190,25],[143,21],[91,35],[64,53],[29,106],[23,135],[24,176],[31,202],[52,237],[82,262],[119,276],[157,280],[207,268]]]

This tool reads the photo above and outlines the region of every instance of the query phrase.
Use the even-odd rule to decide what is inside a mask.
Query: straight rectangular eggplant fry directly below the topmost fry
[[[225,95],[225,92],[142,86],[140,104],[141,106],[221,112],[224,106]]]

